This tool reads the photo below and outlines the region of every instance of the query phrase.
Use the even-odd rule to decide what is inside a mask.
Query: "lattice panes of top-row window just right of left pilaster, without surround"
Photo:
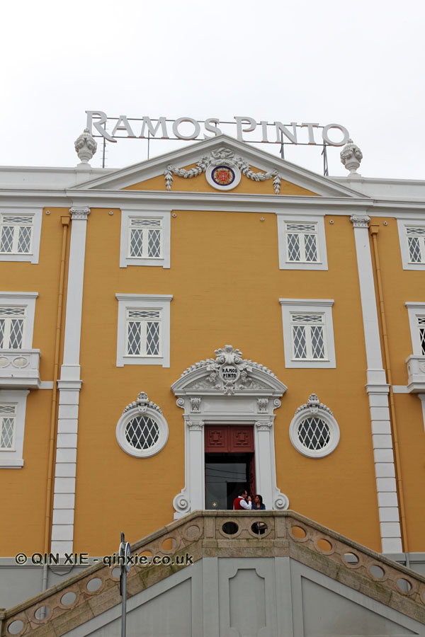
[[[129,258],[162,258],[162,218],[130,217]]]

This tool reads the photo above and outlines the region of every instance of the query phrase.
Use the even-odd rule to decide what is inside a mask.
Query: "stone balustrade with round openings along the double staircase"
[[[290,557],[425,624],[425,578],[293,511],[196,511],[132,544],[128,598],[201,558]],[[165,558],[154,565],[151,556]],[[179,558],[183,564],[179,565]],[[167,563],[169,562],[169,563]],[[0,609],[0,637],[60,637],[120,604],[119,568],[98,563]]]

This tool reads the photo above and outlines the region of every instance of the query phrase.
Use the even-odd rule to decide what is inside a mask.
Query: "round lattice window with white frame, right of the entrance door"
[[[307,413],[306,413],[307,412]],[[295,449],[310,458],[322,458],[334,451],[339,442],[339,427],[331,413],[302,410],[295,414],[289,427]]]

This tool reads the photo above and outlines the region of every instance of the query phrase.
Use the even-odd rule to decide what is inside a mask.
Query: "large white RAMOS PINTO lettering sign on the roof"
[[[209,139],[222,134],[220,125],[236,127],[236,137],[239,142],[256,142],[268,144],[302,144],[344,146],[350,135],[346,127],[341,124],[319,125],[316,122],[280,121],[256,122],[254,117],[234,117],[232,122],[221,122],[217,117],[208,117],[205,121],[195,120],[193,117],[178,117],[169,120],[166,117],[151,119],[142,117],[108,117],[102,110],[87,110],[87,128],[94,137],[103,137],[108,142],[117,139]],[[111,123],[110,123],[111,122]],[[115,123],[113,123],[115,122]],[[109,125],[108,125],[109,124]],[[111,132],[108,132],[110,130]],[[320,131],[320,132],[319,132]],[[246,139],[247,133],[253,133],[256,139]],[[244,137],[245,136],[245,137]],[[317,141],[319,138],[319,141]]]

